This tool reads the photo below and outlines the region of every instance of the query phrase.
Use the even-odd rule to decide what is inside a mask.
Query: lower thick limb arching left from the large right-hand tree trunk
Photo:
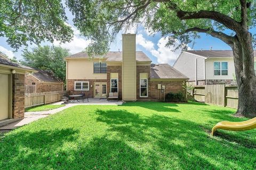
[[[202,29],[202,28],[198,28],[198,27],[193,27],[193,28],[189,28],[189,29],[185,30],[184,32],[182,32],[180,34],[193,32],[193,31],[208,33],[212,37],[219,38],[220,40],[224,41],[230,47],[234,46],[235,37],[226,35],[226,33],[223,33],[223,32],[214,31],[212,28]]]

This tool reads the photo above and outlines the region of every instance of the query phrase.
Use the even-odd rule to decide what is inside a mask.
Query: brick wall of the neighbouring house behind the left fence
[[[49,91],[62,91],[63,83],[52,83],[42,82],[31,76],[30,74],[25,75],[25,84],[31,85],[35,83],[36,92],[49,92]]]

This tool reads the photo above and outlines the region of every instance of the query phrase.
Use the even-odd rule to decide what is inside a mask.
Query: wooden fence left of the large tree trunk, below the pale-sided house
[[[206,85],[195,86],[194,99],[208,104],[237,108],[237,86],[230,85]]]

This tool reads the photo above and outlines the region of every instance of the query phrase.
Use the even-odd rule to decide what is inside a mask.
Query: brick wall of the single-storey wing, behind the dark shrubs
[[[182,83],[183,81],[151,81],[150,82],[150,97],[152,99],[157,99],[158,97],[158,89],[157,89],[157,84],[161,84],[162,86],[165,86],[165,94],[169,92],[184,92],[182,88]]]

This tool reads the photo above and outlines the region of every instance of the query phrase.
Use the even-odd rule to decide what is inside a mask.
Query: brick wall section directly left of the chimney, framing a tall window
[[[122,99],[122,66],[107,66],[107,96],[110,92],[110,73],[118,73],[118,99]]]

